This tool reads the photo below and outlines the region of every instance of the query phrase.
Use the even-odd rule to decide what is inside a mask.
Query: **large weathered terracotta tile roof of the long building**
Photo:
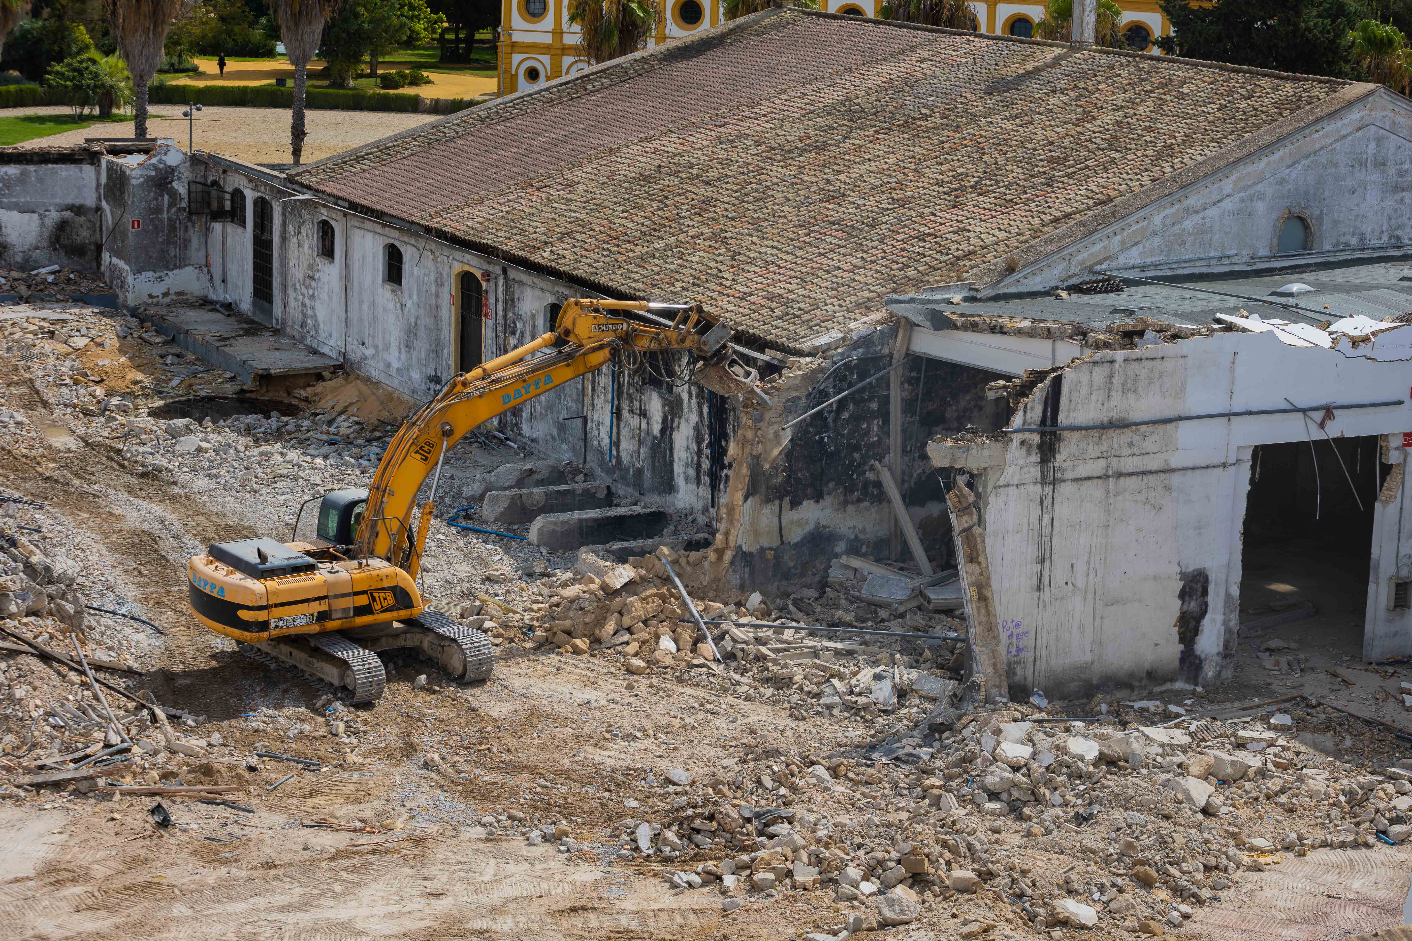
[[[294,179],[796,350],[1347,87],[779,10]]]

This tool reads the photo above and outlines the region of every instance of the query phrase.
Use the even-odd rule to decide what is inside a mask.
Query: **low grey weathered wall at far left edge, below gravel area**
[[[102,164],[96,147],[0,148],[0,268],[97,271]]]

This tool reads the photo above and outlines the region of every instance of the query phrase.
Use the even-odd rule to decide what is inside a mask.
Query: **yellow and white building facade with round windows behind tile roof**
[[[875,17],[887,0],[820,0],[819,8],[856,17]],[[662,0],[657,31],[648,45],[692,35],[720,25],[724,0]],[[1172,31],[1155,0],[1118,0],[1128,45],[1155,51],[1156,37]],[[984,32],[1028,37],[1043,16],[1043,3],[971,0]],[[569,24],[569,0],[501,0],[497,71],[500,95],[538,87],[589,66],[578,52],[579,30]]]

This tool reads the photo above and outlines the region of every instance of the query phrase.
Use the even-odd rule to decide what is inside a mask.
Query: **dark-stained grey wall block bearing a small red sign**
[[[205,217],[186,212],[192,165],[158,142],[148,154],[103,158],[103,277],[124,305],[206,298]]]

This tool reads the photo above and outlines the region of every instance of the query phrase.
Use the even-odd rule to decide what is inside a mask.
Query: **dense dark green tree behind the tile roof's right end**
[[[1172,35],[1169,55],[1278,72],[1354,78],[1351,31],[1363,17],[1353,0],[1220,0],[1210,7],[1158,0]]]

